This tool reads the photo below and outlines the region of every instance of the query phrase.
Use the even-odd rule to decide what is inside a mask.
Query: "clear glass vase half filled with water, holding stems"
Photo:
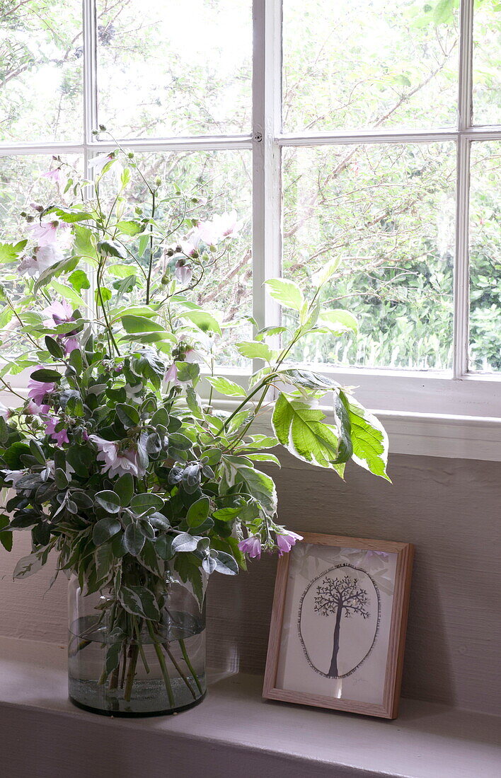
[[[169,584],[159,622],[131,615],[110,589],[68,587],[72,703],[107,716],[177,713],[205,696],[205,599]]]

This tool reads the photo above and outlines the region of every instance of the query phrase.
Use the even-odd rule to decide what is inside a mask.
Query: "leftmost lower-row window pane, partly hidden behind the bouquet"
[[[53,178],[44,173],[55,170],[60,163],[48,155],[40,156],[2,156],[0,157],[0,243],[16,244],[27,237],[26,219],[21,216],[24,211],[37,216],[32,204],[47,205],[58,198],[61,202],[69,202],[70,195],[63,195],[68,177],[82,176],[82,159],[66,155],[62,158],[61,177],[64,181],[56,183]],[[33,245],[30,242],[29,245]],[[21,276],[12,265],[2,267],[2,287],[12,300],[23,296],[25,282],[28,276]],[[44,299],[40,296],[40,304]],[[5,311],[5,303],[0,303],[0,315]],[[3,320],[3,317],[2,317]],[[12,326],[12,319],[5,321],[0,332],[0,349],[2,356],[16,352],[19,335]]]

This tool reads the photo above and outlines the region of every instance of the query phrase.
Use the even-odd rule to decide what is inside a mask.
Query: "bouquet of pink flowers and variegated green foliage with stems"
[[[47,175],[58,202],[32,204],[22,214],[27,237],[0,244],[0,261],[24,282],[22,295],[0,287],[4,351],[12,353],[12,340],[16,346],[0,370],[16,406],[0,418],[0,541],[10,550],[14,530],[30,531],[32,552],[17,563],[16,578],[54,552],[56,575],[73,575],[84,597],[100,597],[101,686],[123,688],[130,701],[148,643],[172,707],[170,659],[192,691],[199,681],[186,650],[183,674],[169,649],[173,585],[191,587],[201,603],[206,576],[235,575],[247,556],[282,555],[300,540],[279,524],[275,485],[261,470],[279,464],[271,450],[282,443],[341,476],[352,458],[387,478],[387,438],[348,390],[287,364],[306,335],[356,328],[347,311],[321,307],[338,261],[324,266],[307,296],[292,281],[267,282],[296,312],[297,326],[260,329],[250,321],[254,338],[236,349],[261,367],[244,388],[215,374],[222,314],[192,294],[230,251],[236,215],[196,219],[196,203],[187,207],[177,191],[161,198],[161,182],[145,180],[120,148],[98,157],[94,174],[93,182],[76,180],[55,158]],[[128,196],[137,178],[148,197],[142,205]],[[27,397],[8,378],[22,371],[30,374]],[[205,396],[202,383],[210,387]],[[318,405],[327,393],[330,421]],[[231,398],[231,410],[215,408],[215,395]],[[270,433],[251,434],[270,406]],[[90,642],[84,636],[73,655]]]

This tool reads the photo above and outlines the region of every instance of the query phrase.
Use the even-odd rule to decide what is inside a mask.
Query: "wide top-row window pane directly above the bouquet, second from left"
[[[100,0],[100,121],[122,137],[250,132],[250,0]]]

